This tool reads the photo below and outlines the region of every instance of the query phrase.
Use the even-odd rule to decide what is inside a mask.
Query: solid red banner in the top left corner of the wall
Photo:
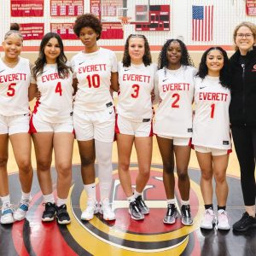
[[[10,9],[12,17],[42,17],[44,0],[11,0]]]

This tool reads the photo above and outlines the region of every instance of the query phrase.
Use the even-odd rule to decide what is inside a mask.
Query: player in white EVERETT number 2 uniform
[[[178,39],[166,41],[160,52],[159,67],[160,70],[155,76],[155,96],[160,97],[160,104],[155,113],[154,134],[157,135],[164,166],[163,181],[166,189],[167,211],[163,221],[165,224],[174,224],[177,219],[177,203],[174,197],[175,155],[182,223],[192,225],[188,165],[196,70],[185,44]]]

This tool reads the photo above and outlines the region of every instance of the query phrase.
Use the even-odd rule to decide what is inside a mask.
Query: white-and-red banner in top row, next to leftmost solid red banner
[[[78,16],[84,14],[84,0],[50,0],[51,16]]]

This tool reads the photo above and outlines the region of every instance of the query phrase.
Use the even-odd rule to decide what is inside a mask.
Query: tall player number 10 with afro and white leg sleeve
[[[81,215],[84,220],[96,212],[106,220],[115,219],[110,207],[112,186],[112,147],[115,113],[110,87],[118,90],[117,59],[113,51],[97,45],[101,38],[102,24],[95,15],[77,18],[73,30],[84,50],[73,56],[74,84],[77,91],[73,109],[73,124],[79,144],[81,172],[87,207]],[[96,200],[95,160],[101,198]],[[97,201],[101,201],[99,204]]]

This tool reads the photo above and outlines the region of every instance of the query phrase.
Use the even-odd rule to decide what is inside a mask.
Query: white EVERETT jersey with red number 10
[[[100,48],[86,54],[79,52],[72,58],[73,77],[79,81],[74,109],[99,111],[113,106],[110,95],[111,73],[117,72],[117,59],[113,51]]]

